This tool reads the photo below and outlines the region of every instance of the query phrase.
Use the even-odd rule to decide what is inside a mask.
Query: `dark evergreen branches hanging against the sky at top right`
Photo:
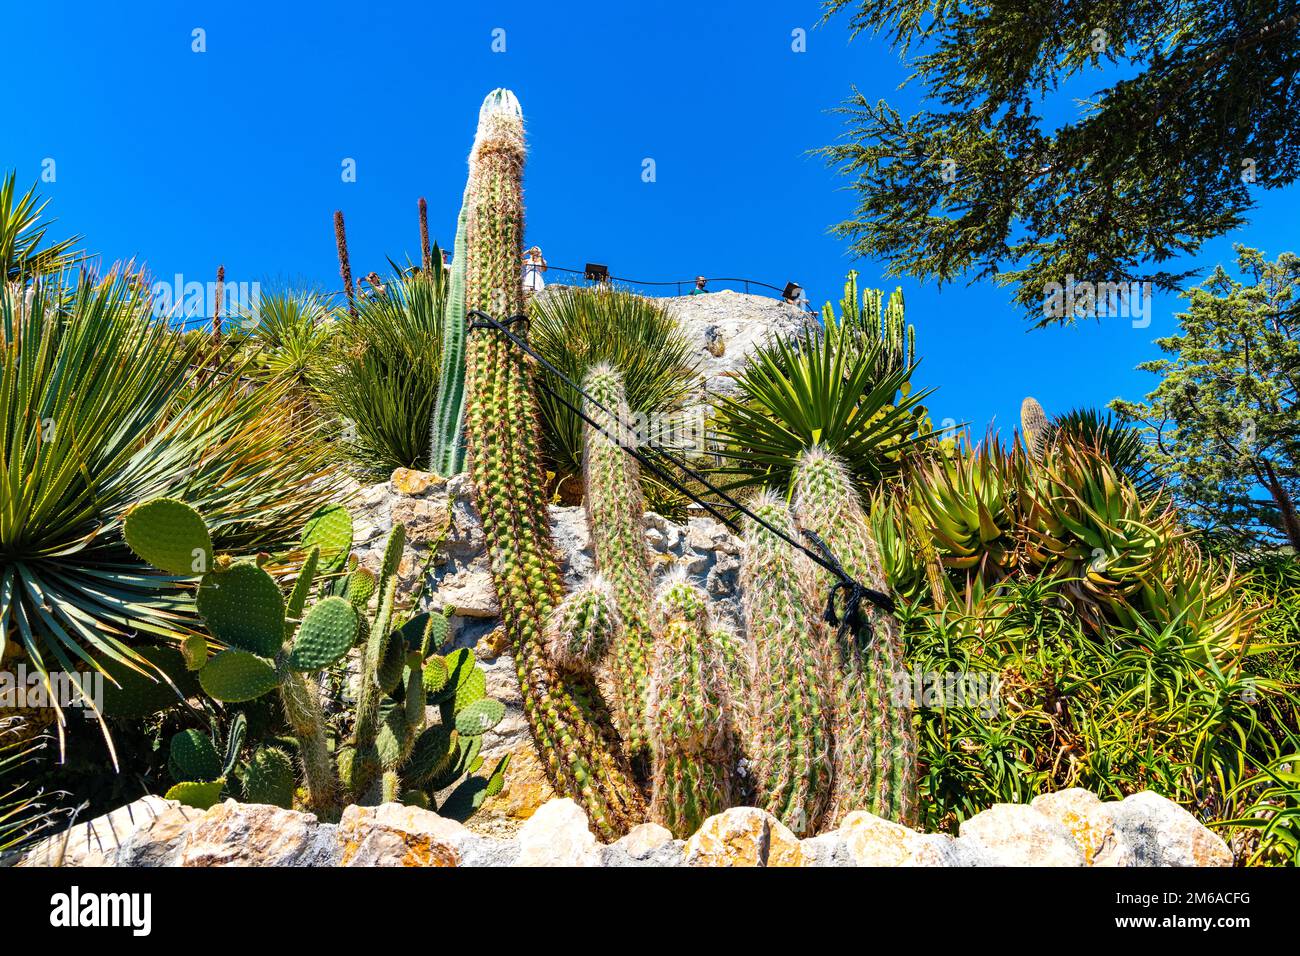
[[[910,117],[854,90],[822,150],[853,178],[835,232],[888,274],[992,277],[1037,325],[1050,284],[1149,281],[1300,168],[1300,0],[827,0],[913,59]],[[1102,73],[1101,70],[1105,70]],[[1091,86],[1089,72],[1102,88]],[[1105,83],[1109,83],[1108,86]],[[1092,96],[1056,127],[1063,86]]]

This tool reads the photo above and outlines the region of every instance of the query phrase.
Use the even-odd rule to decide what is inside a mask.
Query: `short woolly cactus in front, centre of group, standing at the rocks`
[[[705,594],[684,576],[666,581],[664,622],[650,679],[651,818],[686,838],[734,803],[738,758],[723,648],[708,630]]]

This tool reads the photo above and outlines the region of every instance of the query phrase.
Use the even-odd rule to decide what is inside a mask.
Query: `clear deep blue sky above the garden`
[[[42,186],[56,233],[156,276],[298,280],[335,287],[330,217],[347,216],[354,272],[419,255],[416,198],[450,245],[478,104],[516,91],[529,129],[528,239],[552,264],[608,263],[615,274],[698,272],[784,284],[814,304],[838,299],[853,261],[827,228],[853,196],[806,151],[831,142],[827,111],[852,83],[905,112],[905,66],[885,44],[852,44],[844,20],[814,29],[814,0],[716,3],[174,3],[42,0],[5,10],[0,169]],[[283,9],[286,7],[298,8]],[[205,30],[207,52],[191,52]],[[807,30],[807,51],[792,31]],[[504,30],[506,52],[493,52]],[[356,160],[358,181],[341,177]],[[642,182],[642,160],[656,182]],[[1247,242],[1296,251],[1300,191],[1262,193],[1252,222],[1193,265]],[[1049,414],[1144,394],[1134,365],[1156,355],[1178,299],[1153,321],[1102,320],[1026,332],[991,284],[901,282],[939,385],[936,421],[1018,421],[1036,395]]]

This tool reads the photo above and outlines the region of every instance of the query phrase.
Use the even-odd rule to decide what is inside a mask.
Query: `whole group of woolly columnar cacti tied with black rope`
[[[523,164],[519,103],[494,91],[480,113],[458,228],[454,268],[463,269],[464,298],[454,295],[448,306],[458,321],[462,311],[506,320],[524,310]],[[910,362],[901,302],[867,307],[881,334],[893,333],[894,358]],[[514,333],[526,329],[516,325]],[[814,832],[832,808],[904,813],[900,790],[914,774],[894,762],[909,760],[906,719],[880,701],[854,700],[880,695],[890,679],[897,632],[876,622],[885,641],[879,649],[836,648],[818,618],[811,563],[762,524],[748,536],[748,644],[711,620],[703,594],[682,580],[664,584],[656,600],[640,476],[623,447],[624,386],[618,369],[604,365],[584,380],[586,415],[595,423],[584,432],[584,471],[599,580],[566,596],[550,538],[533,365],[497,329],[471,326],[468,339],[469,472],[524,711],[555,788],[581,803],[608,836],[647,810],[685,836],[750,796],[800,834]],[[436,428],[452,421],[442,415]],[[794,533],[783,501],[764,498],[758,514]],[[814,506],[809,515],[826,516]],[[864,520],[861,507],[854,516]],[[827,523],[832,536],[835,522]],[[867,558],[863,567],[870,570]],[[854,730],[841,739],[837,791],[838,719]],[[864,754],[870,767],[849,766]]]

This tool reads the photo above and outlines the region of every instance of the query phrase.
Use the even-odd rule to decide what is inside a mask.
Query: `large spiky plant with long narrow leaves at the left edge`
[[[140,641],[187,633],[176,579],[122,541],[135,501],[203,502],[242,550],[287,542],[320,505],[322,458],[277,414],[287,385],[248,389],[246,367],[153,321],[144,286],[0,290],[0,648],[42,674],[156,672]]]

